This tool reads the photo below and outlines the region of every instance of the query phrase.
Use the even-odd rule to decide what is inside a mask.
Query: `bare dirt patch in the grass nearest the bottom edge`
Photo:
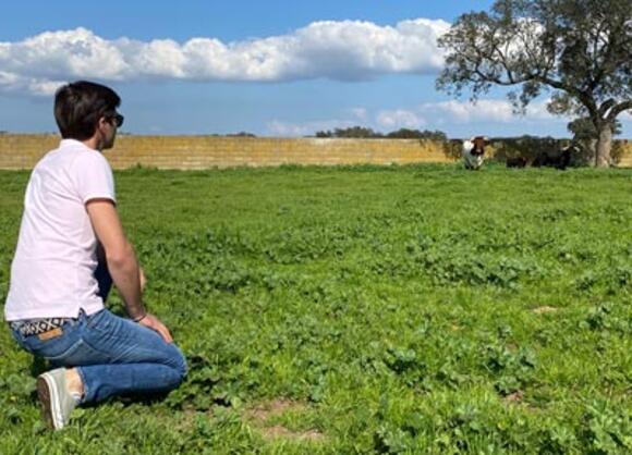
[[[305,431],[290,430],[281,425],[267,425],[268,421],[285,413],[301,413],[307,410],[307,405],[291,399],[278,398],[246,409],[244,418],[253,423],[265,439],[283,438],[294,441],[323,441],[325,434],[316,429]]]

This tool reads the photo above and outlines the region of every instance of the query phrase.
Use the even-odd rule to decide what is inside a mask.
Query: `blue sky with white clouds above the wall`
[[[436,39],[491,0],[9,1],[0,15],[0,131],[54,132],[52,95],[89,79],[122,98],[130,134],[306,136],[337,127],[568,137],[500,90],[435,89]],[[550,94],[548,95],[550,96]],[[632,115],[620,116],[632,137]]]

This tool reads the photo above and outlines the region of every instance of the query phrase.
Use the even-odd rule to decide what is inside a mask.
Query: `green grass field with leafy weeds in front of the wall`
[[[27,177],[0,172],[2,302]],[[630,170],[116,177],[187,380],[48,432],[2,330],[2,454],[632,452]]]

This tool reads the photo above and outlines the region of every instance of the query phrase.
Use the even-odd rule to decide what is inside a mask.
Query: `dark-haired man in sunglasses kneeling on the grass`
[[[123,123],[120,102],[99,84],[61,87],[54,118],[62,140],[33,170],[24,198],[4,316],[17,343],[56,367],[37,379],[53,429],[80,404],[168,392],[186,372],[169,330],[143,305],[144,278],[101,153]],[[130,319],[104,306],[112,281]]]

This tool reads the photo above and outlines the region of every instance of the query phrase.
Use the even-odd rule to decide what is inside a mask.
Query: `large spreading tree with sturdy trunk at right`
[[[588,118],[597,133],[595,164],[610,164],[617,116],[632,110],[630,0],[497,0],[489,13],[461,15],[439,38],[447,51],[441,90],[476,100],[493,86],[514,110],[545,91],[558,115]]]

